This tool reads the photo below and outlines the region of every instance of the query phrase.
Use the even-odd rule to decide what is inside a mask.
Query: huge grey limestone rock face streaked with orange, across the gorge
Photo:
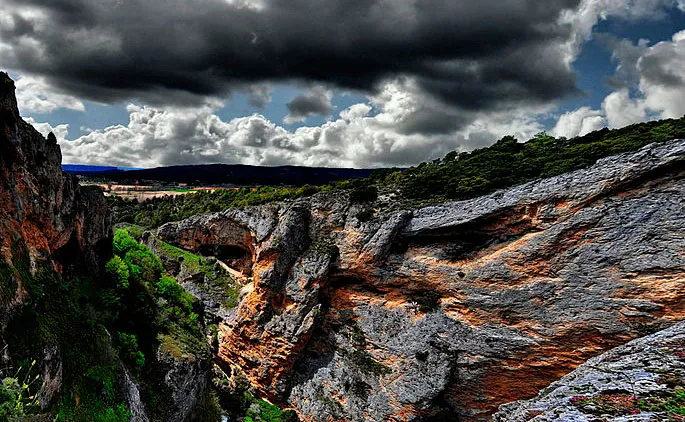
[[[490,420],[685,319],[684,164],[676,140],[419,210],[325,192],[158,235],[244,274],[218,360],[303,420]]]

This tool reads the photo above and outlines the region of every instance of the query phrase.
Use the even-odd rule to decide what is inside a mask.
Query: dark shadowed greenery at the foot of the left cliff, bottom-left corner
[[[32,273],[22,241],[15,242],[11,263],[0,259],[0,271],[3,298],[12,297],[7,293],[14,293],[17,283],[29,296],[4,332],[15,366],[1,373],[0,420],[24,420],[24,415],[40,411],[36,397],[46,386],[37,378],[42,363],[36,365],[36,359],[45,359],[46,350],[54,350],[63,374],[61,399],[49,409],[56,421],[128,421],[130,412],[117,391],[119,350],[107,328],[109,318],[99,306],[104,291],[98,283],[63,277],[45,266]]]

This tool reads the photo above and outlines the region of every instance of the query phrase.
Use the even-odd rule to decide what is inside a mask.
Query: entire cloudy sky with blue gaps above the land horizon
[[[0,0],[70,164],[405,167],[685,115],[685,0]]]

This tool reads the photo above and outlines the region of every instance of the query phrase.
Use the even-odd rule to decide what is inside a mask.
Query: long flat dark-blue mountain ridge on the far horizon
[[[261,167],[243,164],[206,164],[122,169],[99,166],[63,166],[65,171],[85,177],[105,178],[116,182],[154,180],[166,183],[202,185],[325,185],[345,179],[369,177],[373,169],[279,166]]]

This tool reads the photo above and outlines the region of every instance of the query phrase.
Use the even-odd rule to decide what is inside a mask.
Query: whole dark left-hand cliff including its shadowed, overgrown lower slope
[[[40,400],[36,409],[0,388],[0,420],[37,413],[60,421],[189,420],[211,368],[203,327],[158,333],[148,325],[171,304],[157,306],[147,285],[130,294],[144,305],[134,309],[129,280],[112,287],[105,198],[62,171],[55,136],[46,139],[21,119],[14,91],[0,72],[0,381],[30,379],[23,394]],[[182,349],[184,341],[194,342],[195,354]]]

